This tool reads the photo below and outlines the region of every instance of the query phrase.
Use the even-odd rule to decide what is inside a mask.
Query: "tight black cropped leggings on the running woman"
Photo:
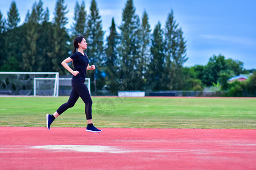
[[[64,103],[57,109],[57,113],[61,114],[67,111],[68,108],[72,108],[76,101],[81,97],[82,101],[85,103],[85,115],[86,119],[92,119],[92,99],[88,88],[83,82],[72,82],[72,91],[69,96],[68,102]]]

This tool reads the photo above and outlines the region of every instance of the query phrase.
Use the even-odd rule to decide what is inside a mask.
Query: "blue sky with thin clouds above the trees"
[[[91,0],[84,0],[89,12]],[[15,0],[20,14],[20,24],[27,11],[39,0]],[[56,0],[42,0],[53,18]],[[64,0],[67,5],[70,28],[76,0]],[[82,0],[77,0],[81,4]],[[105,36],[109,36],[112,18],[118,27],[122,22],[122,10],[126,0],[96,0]],[[184,66],[207,65],[209,58],[219,54],[226,59],[243,62],[245,69],[256,69],[256,1],[255,0],[134,0],[135,13],[142,18],[146,10],[151,31],[160,22],[164,28],[168,14],[174,11],[174,19],[183,30],[187,41],[187,62]],[[0,2],[0,11],[7,18],[11,0]],[[85,35],[86,37],[86,35]]]

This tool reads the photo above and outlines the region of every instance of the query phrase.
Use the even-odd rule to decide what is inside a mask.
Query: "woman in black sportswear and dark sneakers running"
[[[52,122],[60,116],[61,113],[67,111],[68,108],[72,108],[76,101],[81,97],[82,101],[85,103],[85,115],[87,120],[87,128],[86,131],[90,131],[93,133],[101,132],[101,130],[95,128],[92,122],[92,99],[90,97],[90,93],[88,88],[84,84],[85,77],[86,77],[86,70],[95,70],[95,66],[89,66],[89,58],[87,57],[86,53],[84,53],[84,49],[87,49],[87,43],[85,37],[78,36],[75,38],[73,42],[74,50],[72,56],[64,59],[61,62],[61,65],[65,69],[67,69],[72,75],[72,91],[69,96],[68,102],[64,103],[57,109],[57,111],[53,114],[46,114],[46,125],[48,130]],[[76,51],[77,49],[77,51]],[[72,70],[71,67],[68,66],[69,62],[73,62],[73,67],[75,69]]]

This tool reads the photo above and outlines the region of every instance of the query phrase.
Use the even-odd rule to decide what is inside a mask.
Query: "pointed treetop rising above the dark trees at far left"
[[[7,16],[8,29],[14,29],[15,27],[17,27],[20,22],[20,18],[15,1],[11,2],[11,7],[10,10],[7,12]]]

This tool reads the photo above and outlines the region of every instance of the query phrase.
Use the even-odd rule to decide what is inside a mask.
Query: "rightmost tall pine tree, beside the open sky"
[[[174,19],[174,12],[168,14],[166,27],[164,29],[165,36],[165,69],[164,77],[168,90],[180,90],[182,66],[188,58],[185,57],[186,45],[181,28],[178,28]]]

